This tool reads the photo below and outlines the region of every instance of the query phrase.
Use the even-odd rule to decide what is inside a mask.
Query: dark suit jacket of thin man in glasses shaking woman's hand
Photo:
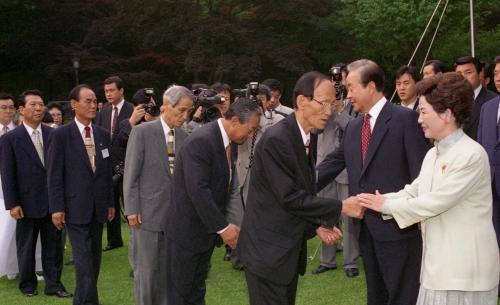
[[[315,146],[311,134],[311,146]],[[313,152],[306,155],[295,114],[267,129],[257,144],[238,241],[245,268],[279,284],[304,274],[307,239],[338,222],[342,203],[316,197]]]

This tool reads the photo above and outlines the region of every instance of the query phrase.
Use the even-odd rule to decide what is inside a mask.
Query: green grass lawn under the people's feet
[[[125,243],[128,242],[128,228],[123,225]],[[106,240],[103,238],[103,240]],[[313,255],[319,240],[309,241],[309,255]],[[69,243],[68,243],[69,245]],[[68,252],[66,251],[66,258]],[[215,250],[212,270],[207,280],[207,305],[247,305],[248,293],[244,274],[231,268],[229,262],[222,260],[224,248]],[[66,260],[65,260],[66,261]],[[339,266],[342,257],[337,257]],[[307,274],[299,279],[297,305],[362,305],[366,300],[366,289],[361,275],[349,279],[339,269],[320,275],[312,275],[311,270],[319,264],[319,253],[308,264]],[[129,277],[130,267],[127,247],[104,252],[99,277],[99,295],[103,305],[133,305],[133,280]],[[63,283],[72,292],[75,288],[73,266],[64,266]],[[44,282],[39,282],[39,295],[26,298],[17,289],[17,280],[0,279],[0,305],[58,305],[72,304],[71,299],[60,300],[43,294]]]

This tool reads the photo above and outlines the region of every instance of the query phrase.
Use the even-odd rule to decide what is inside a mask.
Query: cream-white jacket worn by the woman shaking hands
[[[499,281],[488,157],[461,129],[427,153],[420,175],[386,194],[401,228],[421,222],[421,284],[431,290],[487,291]]]

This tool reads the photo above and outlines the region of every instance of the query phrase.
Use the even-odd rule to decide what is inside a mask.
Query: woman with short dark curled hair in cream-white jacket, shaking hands
[[[471,116],[472,86],[452,72],[421,81],[417,90],[419,123],[435,146],[420,175],[400,192],[358,197],[401,228],[421,224],[417,305],[496,305],[500,267],[488,156],[461,128]]]

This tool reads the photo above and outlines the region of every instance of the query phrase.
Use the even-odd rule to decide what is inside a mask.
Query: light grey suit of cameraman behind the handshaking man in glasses
[[[318,136],[318,160],[320,164],[323,159],[337,147],[342,141],[344,130],[354,118],[352,105],[348,102],[341,113],[334,113],[327,122],[323,133]],[[333,182],[327,185],[319,196],[326,198],[335,198],[343,200],[349,197],[349,181],[347,171],[344,169]],[[359,257],[359,226],[355,225],[355,221],[351,217],[342,214],[343,222],[343,245],[344,245],[344,268],[358,268],[357,259]],[[335,254],[338,249],[338,244],[328,246],[321,244],[320,264],[326,267],[335,267]]]

